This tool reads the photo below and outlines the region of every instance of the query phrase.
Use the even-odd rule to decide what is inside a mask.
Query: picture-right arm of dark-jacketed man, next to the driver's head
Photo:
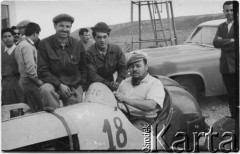
[[[127,77],[127,65],[126,65],[126,59],[125,59],[125,55],[123,53],[123,51],[120,49],[119,47],[119,61],[117,63],[117,72],[118,72],[118,77],[116,79],[116,81],[118,83],[121,83],[122,80],[124,80]]]

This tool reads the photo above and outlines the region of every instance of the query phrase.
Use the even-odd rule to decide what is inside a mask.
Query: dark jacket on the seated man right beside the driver
[[[114,80],[113,74],[117,71],[116,82],[120,83],[127,76],[125,55],[121,48],[115,44],[109,44],[105,58],[96,49],[95,44],[87,51],[88,73],[90,82],[101,82],[109,86]]]

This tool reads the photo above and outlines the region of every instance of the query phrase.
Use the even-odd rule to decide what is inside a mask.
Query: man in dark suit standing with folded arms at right
[[[223,13],[227,21],[218,26],[213,45],[216,48],[221,48],[220,72],[222,73],[223,82],[228,92],[231,118],[236,118],[238,102],[236,98],[235,40],[232,1],[226,1],[223,4]]]

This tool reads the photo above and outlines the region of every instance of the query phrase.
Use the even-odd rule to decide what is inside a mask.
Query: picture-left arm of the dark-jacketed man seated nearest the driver
[[[101,82],[107,85],[108,87],[110,86],[109,81],[105,80],[100,75],[98,75],[97,66],[94,63],[94,57],[90,53],[87,53],[87,65],[88,65],[88,75],[91,82]]]

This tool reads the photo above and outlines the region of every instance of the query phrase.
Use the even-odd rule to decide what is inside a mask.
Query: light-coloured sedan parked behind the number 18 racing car
[[[196,98],[226,94],[219,71],[221,51],[212,43],[224,21],[201,23],[183,45],[141,50],[149,57],[149,72],[174,79]]]

